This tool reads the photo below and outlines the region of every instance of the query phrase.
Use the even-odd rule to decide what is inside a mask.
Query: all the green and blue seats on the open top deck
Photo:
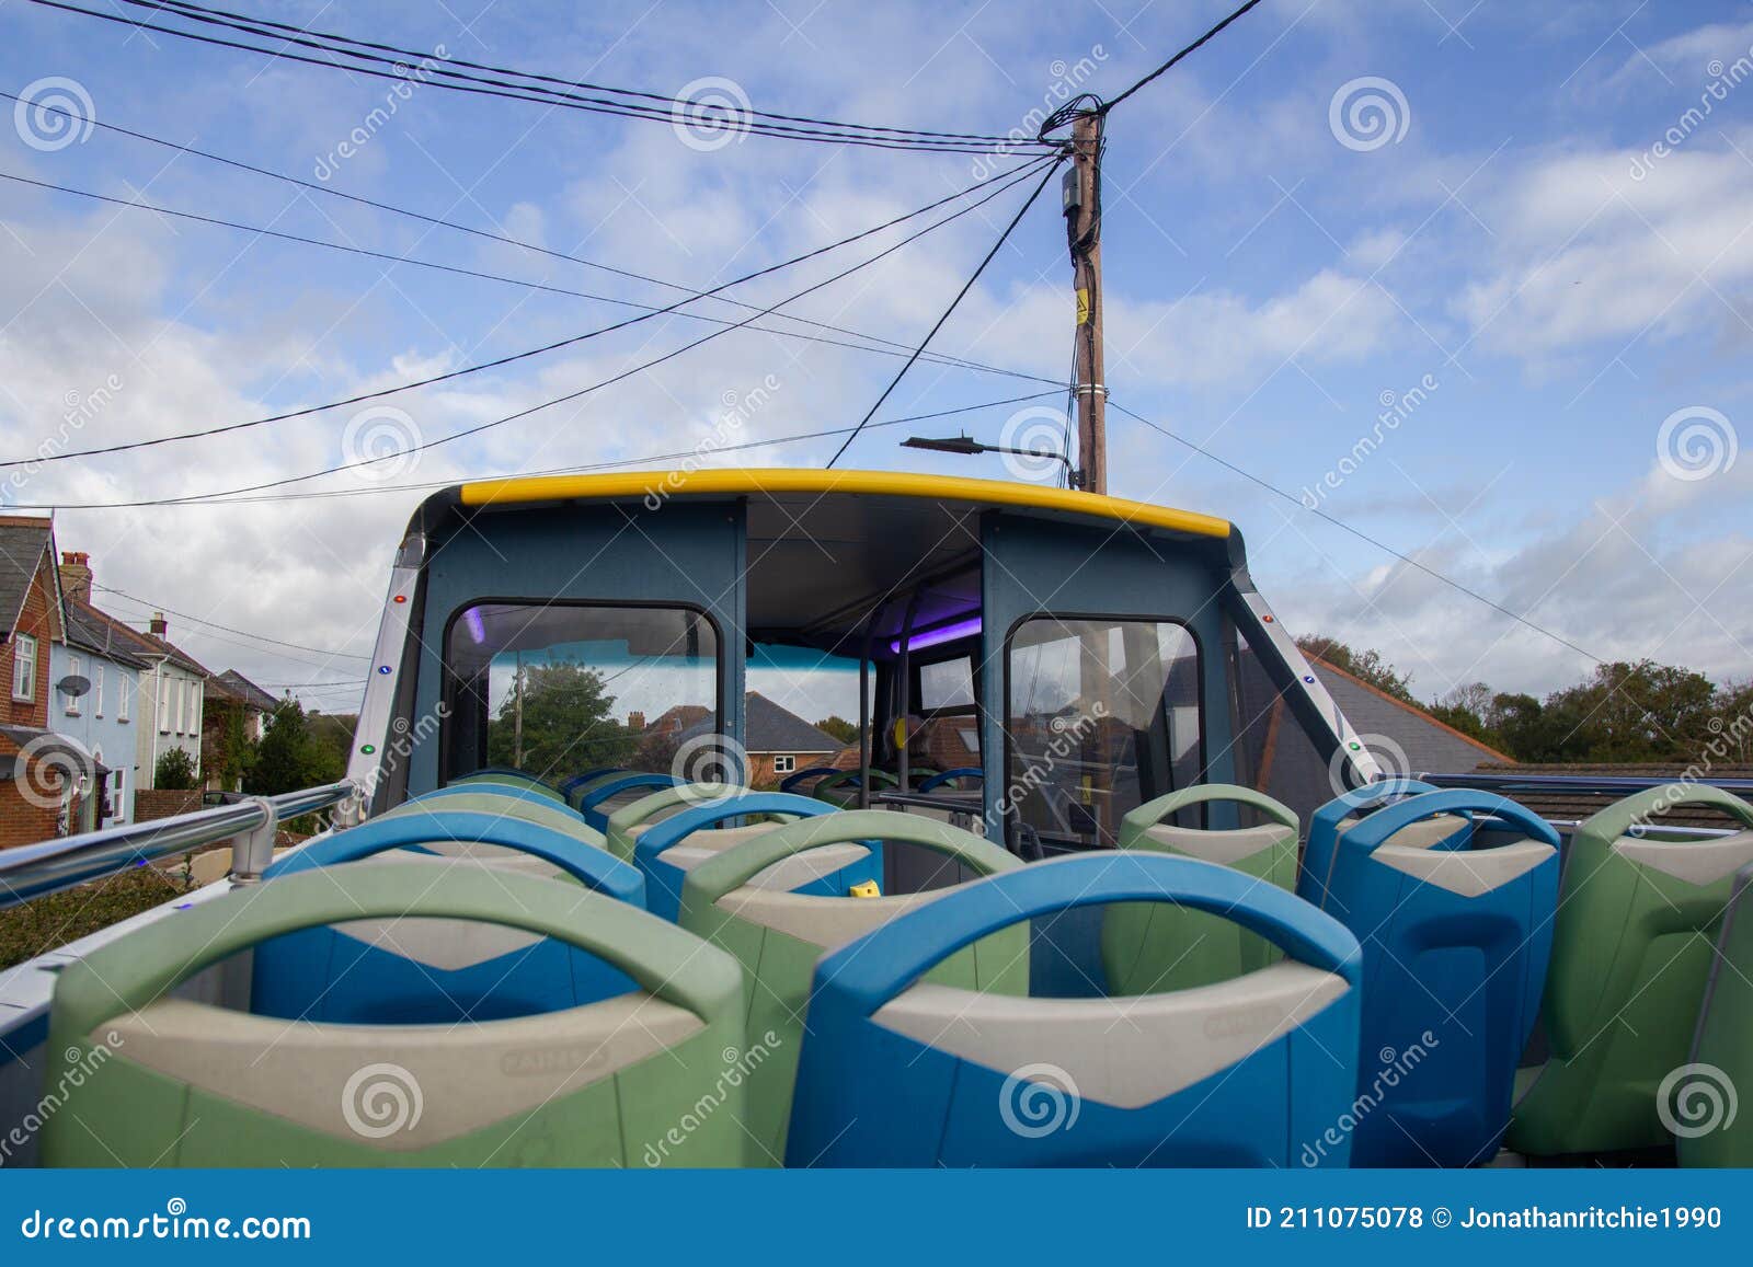
[[[1225,801],[1259,824],[1187,822]],[[51,1123],[46,1157],[1466,1165],[1518,1097],[1522,1151],[1636,1148],[1650,1120],[1660,1143],[1688,1057],[1753,1078],[1753,832],[1655,845],[1646,801],[1578,831],[1560,899],[1548,824],[1409,780],[1320,810],[1301,864],[1294,813],[1194,787],[1127,815],[1117,853],[1026,866],[819,797],[482,771],[63,973],[51,1050],[107,1041],[81,1095],[138,1111],[102,1148]],[[941,887],[884,895],[892,846]],[[1031,997],[1031,929],[1083,906],[1099,997]],[[167,997],[244,948],[252,1015]],[[1553,1055],[1518,1085],[1537,1015]],[[1728,1127],[1681,1160],[1748,1164]]]

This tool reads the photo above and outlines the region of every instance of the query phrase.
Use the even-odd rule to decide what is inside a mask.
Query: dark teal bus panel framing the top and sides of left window
[[[419,617],[415,717],[444,717],[410,757],[408,794],[442,787],[454,741],[444,662],[452,626],[480,605],[673,608],[717,645],[717,731],[743,733],[745,515],[740,501],[568,503],[465,512],[431,533]]]

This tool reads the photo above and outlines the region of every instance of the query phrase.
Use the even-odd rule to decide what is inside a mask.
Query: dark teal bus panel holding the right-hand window
[[[980,696],[982,750],[987,754],[985,813],[989,824],[1003,824],[1006,843],[1013,850],[1027,857],[1036,846],[1036,841],[1027,839],[1033,829],[1022,829],[1017,811],[1031,796],[1040,796],[1040,783],[1031,787],[1031,780],[1057,780],[1057,796],[1066,799],[1066,789],[1080,778],[1076,769],[1080,754],[1069,748],[1080,745],[1089,748],[1099,726],[1110,733],[1103,743],[1132,754],[1136,766],[1125,778],[1136,780],[1136,794],[1141,799],[1192,782],[1234,778],[1222,601],[1231,570],[1227,543],[1153,529],[1045,522],[997,512],[985,517],[982,538],[985,568]],[[1182,703],[1197,708],[1197,752],[1189,750],[1175,762],[1175,769],[1169,769],[1166,754],[1155,750],[1169,734],[1171,722],[1164,713],[1175,711],[1164,683],[1164,699],[1153,708],[1157,717],[1150,727],[1138,731],[1136,740],[1125,736],[1129,727],[1124,718],[1078,717],[1080,710],[1094,711],[1094,708],[1087,701],[1068,703],[1064,715],[1054,717],[1048,729],[1034,727],[1041,736],[1055,736],[1047,755],[1040,761],[1038,754],[1031,755],[1027,768],[1020,769],[1018,745],[1029,741],[1026,733],[1031,722],[1041,718],[1011,718],[1011,692],[1029,694],[1029,683],[1011,680],[1018,662],[1013,650],[1018,636],[1024,643],[1031,640],[1033,631],[1040,629],[1031,622],[1043,617],[1062,624],[1068,631],[1108,629],[1111,643],[1120,648],[1127,648],[1129,638],[1160,636],[1166,641],[1173,640],[1190,659],[1196,657],[1197,668],[1190,673],[1196,680],[1178,683],[1176,690],[1185,696]],[[1160,731],[1162,740],[1153,738],[1150,731]],[[1043,762],[1059,769],[1043,769]],[[1085,796],[1085,801],[1089,799]],[[1113,818],[1117,822],[1118,815]],[[1055,843],[1078,846],[1075,839],[1040,841],[1048,852],[1054,852],[1050,846]]]

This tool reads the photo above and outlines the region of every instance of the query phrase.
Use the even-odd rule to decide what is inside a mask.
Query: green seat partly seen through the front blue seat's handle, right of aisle
[[[1166,822],[1213,801],[1250,806],[1269,822],[1224,831]],[[1199,783],[1125,815],[1120,848],[1217,862],[1288,892],[1297,878],[1297,815],[1248,787]],[[1101,957],[1110,994],[1164,994],[1266,967],[1276,950],[1234,920],[1166,902],[1117,902],[1103,910]]]

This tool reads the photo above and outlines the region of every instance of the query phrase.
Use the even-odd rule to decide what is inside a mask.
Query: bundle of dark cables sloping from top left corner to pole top
[[[149,30],[163,35],[174,35],[186,40],[195,40],[200,44],[212,44],[217,47],[240,49],[245,53],[256,53],[277,61],[300,61],[316,67],[326,67],[330,70],[345,70],[351,74],[370,75],[375,79],[387,79],[394,82],[405,82],[415,72],[419,74],[421,84],[433,88],[445,88],[459,93],[473,93],[482,96],[498,96],[507,100],[533,102],[538,105],[563,107],[573,110],[584,110],[591,114],[607,114],[615,117],[629,119],[649,119],[675,126],[677,123],[705,123],[710,128],[722,128],[736,131],[777,137],[785,140],[810,140],[820,144],[836,145],[862,145],[875,149],[894,149],[894,151],[915,151],[915,152],[945,152],[945,154],[980,154],[994,144],[1003,142],[1001,137],[978,137],[978,138],[955,138],[954,133],[906,133],[896,130],[894,133],[875,131],[868,124],[827,124],[827,126],[801,126],[791,123],[778,123],[768,117],[757,117],[750,112],[743,112],[738,107],[722,109],[712,107],[706,102],[687,102],[680,98],[659,98],[668,102],[666,107],[657,105],[640,105],[635,100],[612,100],[605,96],[587,96],[570,89],[543,88],[540,82],[514,82],[505,77],[496,75],[472,75],[458,70],[445,68],[447,60],[435,60],[431,54],[405,51],[398,56],[382,56],[375,53],[363,53],[354,47],[342,47],[337,42],[326,42],[324,39],[310,39],[310,33],[280,33],[256,19],[237,18],[237,16],[217,16],[219,11],[191,11],[188,7],[172,7],[167,4],[156,4],[147,0],[126,0],[135,7],[147,9],[154,16],[163,18],[181,18],[184,21],[195,21],[207,26],[230,28],[245,35],[254,35],[258,39],[275,40],[280,47],[261,47],[258,44],[245,44],[233,39],[223,39],[216,35],[203,35],[200,32],[182,30],[177,26],[165,26],[161,23],[147,21],[145,18],[128,18],[121,14],[109,14],[96,9],[84,9],[81,5],[63,4],[61,0],[33,0],[51,9],[61,9],[65,12],[82,14],[86,18],[100,18],[103,21],[119,23],[135,30]],[[298,32],[300,28],[286,28],[287,32]],[[316,53],[324,53],[328,56],[309,56],[302,53],[291,53],[284,46],[293,44],[300,47],[312,49]],[[359,49],[368,47],[365,42],[354,40]],[[351,65],[349,61],[337,61],[335,58],[347,58],[349,61],[366,63]],[[407,58],[415,58],[417,67],[408,67]],[[458,63],[461,65],[461,63]],[[507,72],[521,74],[521,72]],[[533,79],[529,75],[521,75],[522,79]],[[557,81],[564,82],[564,81]],[[969,133],[969,137],[973,137]]]

